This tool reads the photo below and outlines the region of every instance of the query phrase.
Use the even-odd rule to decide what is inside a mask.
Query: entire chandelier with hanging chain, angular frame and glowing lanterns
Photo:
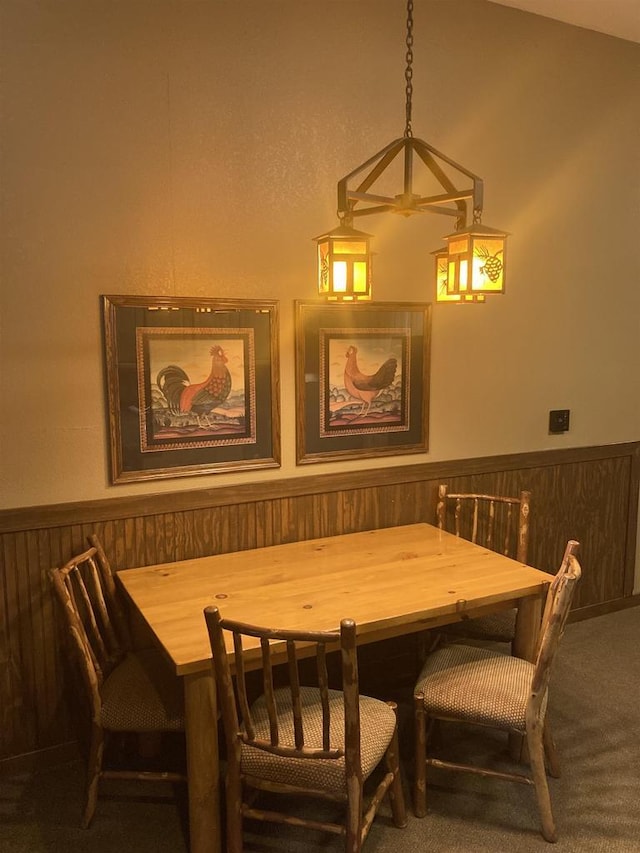
[[[340,225],[315,238],[318,292],[330,300],[371,299],[372,235],[354,229],[354,218],[378,213],[439,213],[453,217],[455,225],[444,238],[447,245],[433,253],[436,301],[483,302],[488,293],[504,292],[508,235],[482,225],[482,179],[413,136],[413,0],[407,0],[406,48],[404,135],[338,182]],[[396,158],[402,158],[401,191],[394,195],[375,192],[375,185]],[[435,191],[414,191],[414,173],[417,176],[418,170],[426,170],[435,178]]]

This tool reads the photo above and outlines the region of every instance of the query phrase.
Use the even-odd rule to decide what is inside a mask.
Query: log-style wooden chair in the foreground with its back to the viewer
[[[405,826],[395,706],[359,695],[355,623],[345,619],[339,631],[288,631],[225,620],[216,607],[204,613],[227,746],[228,853],[242,851],[244,818],[340,834],[345,850],[358,853],[387,793],[395,825]],[[225,638],[232,638],[229,649]],[[328,647],[341,650],[340,691],[328,687]],[[307,676],[313,686],[301,686],[299,658],[314,653]],[[277,671],[279,687],[278,662],[286,662]],[[256,666],[262,667],[264,693],[250,705],[245,676]],[[365,809],[363,784],[383,759],[386,772]],[[276,798],[284,810],[258,808],[259,791],[284,795]],[[344,803],[344,823],[287,813],[295,795]]]

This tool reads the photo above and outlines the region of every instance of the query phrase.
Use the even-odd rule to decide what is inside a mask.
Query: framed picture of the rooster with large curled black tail
[[[280,464],[278,306],[103,296],[111,482]]]

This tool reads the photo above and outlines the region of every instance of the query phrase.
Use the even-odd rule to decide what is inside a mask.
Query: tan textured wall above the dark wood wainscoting
[[[640,438],[639,45],[416,0],[414,132],[484,178],[508,294],[435,306],[426,457],[296,468],[293,300],[338,179],[402,135],[404,0],[0,10],[0,508]],[[366,220],[376,299],[430,301],[449,228]],[[279,299],[282,468],[110,487],[103,293]]]

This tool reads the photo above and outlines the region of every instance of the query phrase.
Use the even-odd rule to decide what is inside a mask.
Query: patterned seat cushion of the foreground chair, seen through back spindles
[[[301,687],[305,747],[322,747],[322,708],[317,688]],[[293,744],[293,715],[288,689],[275,691],[280,744]],[[344,749],[344,702],[342,693],[329,691],[331,747]],[[252,706],[256,737],[269,740],[269,718],[260,697]],[[366,779],[382,759],[396,725],[395,712],[385,702],[360,697],[360,748],[362,776]],[[320,791],[345,790],[344,758],[283,758],[262,749],[242,746],[242,772],[271,782]]]

